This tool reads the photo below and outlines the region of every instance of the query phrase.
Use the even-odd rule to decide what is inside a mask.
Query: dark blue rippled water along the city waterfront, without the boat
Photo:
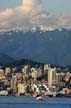
[[[71,98],[0,97],[0,108],[71,108]]]

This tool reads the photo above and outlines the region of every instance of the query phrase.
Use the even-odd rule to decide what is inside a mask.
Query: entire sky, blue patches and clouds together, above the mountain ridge
[[[0,0],[0,30],[71,28],[71,0]]]

